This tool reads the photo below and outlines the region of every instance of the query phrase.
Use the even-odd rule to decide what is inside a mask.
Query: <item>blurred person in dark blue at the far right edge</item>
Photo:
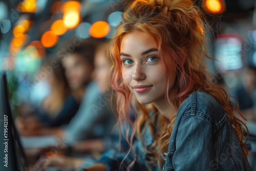
[[[243,72],[241,86],[233,91],[241,113],[248,121],[255,121],[253,92],[256,88],[256,68],[247,67]]]

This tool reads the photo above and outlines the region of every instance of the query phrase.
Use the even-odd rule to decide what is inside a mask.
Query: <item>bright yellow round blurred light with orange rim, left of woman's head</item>
[[[75,28],[80,22],[80,13],[78,11],[68,11],[63,16],[63,24],[68,29]]]

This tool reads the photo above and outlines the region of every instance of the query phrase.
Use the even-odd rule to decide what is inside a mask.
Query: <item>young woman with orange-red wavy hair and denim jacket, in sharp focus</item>
[[[140,109],[131,124],[145,151],[131,143],[132,160],[126,155],[117,166],[111,156],[88,170],[251,169],[239,112],[207,80],[203,28],[190,0],[136,1],[126,8],[110,45],[112,87],[119,122],[129,120],[127,109]],[[138,105],[131,108],[132,96]]]

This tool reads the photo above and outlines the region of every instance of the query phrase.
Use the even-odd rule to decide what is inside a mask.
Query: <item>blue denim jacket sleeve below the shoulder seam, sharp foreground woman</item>
[[[200,130],[200,131],[199,131]],[[175,170],[207,170],[213,158],[211,125],[200,116],[184,117],[180,121],[173,152]],[[169,152],[172,153],[172,152]]]

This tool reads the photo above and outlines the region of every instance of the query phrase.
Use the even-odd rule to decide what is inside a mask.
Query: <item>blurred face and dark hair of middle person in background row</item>
[[[91,74],[94,70],[94,39],[88,39],[76,46],[74,50],[58,51],[57,56],[61,58],[65,74],[70,88],[77,100],[82,101],[86,89],[91,83]]]

